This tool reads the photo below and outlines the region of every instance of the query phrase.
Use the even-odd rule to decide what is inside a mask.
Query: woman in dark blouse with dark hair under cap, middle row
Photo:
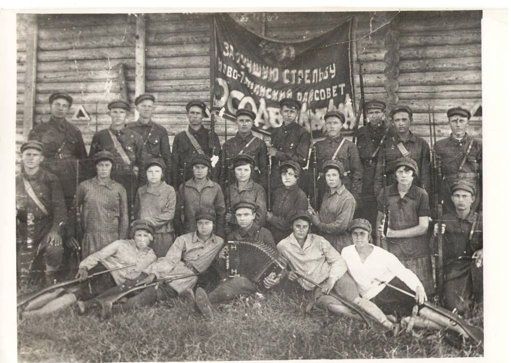
[[[289,217],[297,210],[306,210],[309,206],[307,196],[298,185],[301,167],[297,162],[287,160],[278,167],[281,172],[283,187],[274,192],[271,212],[266,212],[267,228],[278,244],[292,232]]]

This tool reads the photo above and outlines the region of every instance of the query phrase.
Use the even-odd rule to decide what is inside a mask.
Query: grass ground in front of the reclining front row
[[[415,329],[386,337],[359,321],[307,301],[272,293],[239,299],[211,321],[181,300],[115,313],[102,321],[74,309],[18,323],[19,361],[183,361],[482,356],[482,347],[456,349],[444,332]],[[482,310],[469,319],[482,327]]]

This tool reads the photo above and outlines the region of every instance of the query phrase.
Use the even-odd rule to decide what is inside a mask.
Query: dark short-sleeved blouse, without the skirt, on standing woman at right
[[[398,184],[394,183],[380,191],[378,211],[385,214],[389,210],[388,227],[402,230],[419,225],[420,217],[429,217],[428,193],[415,185],[411,185],[405,196],[401,198]],[[388,251],[400,259],[424,257],[429,255],[427,235],[423,234],[406,238],[387,238]]]

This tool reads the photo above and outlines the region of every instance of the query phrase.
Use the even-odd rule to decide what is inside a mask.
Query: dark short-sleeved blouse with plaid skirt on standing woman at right
[[[399,195],[398,184],[383,188],[378,196],[378,211],[389,210],[388,226],[402,230],[419,225],[420,217],[429,217],[428,193],[411,185],[403,198]],[[426,233],[415,237],[387,238],[388,251],[410,269],[421,280],[427,294],[433,293],[433,271],[429,243]]]

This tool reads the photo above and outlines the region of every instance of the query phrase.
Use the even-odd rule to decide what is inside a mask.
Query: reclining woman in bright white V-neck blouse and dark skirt
[[[409,316],[416,304],[420,306],[427,300],[419,278],[405,268],[396,256],[371,244],[371,225],[367,220],[353,220],[348,229],[352,235],[353,245],[345,247],[341,256],[357,283],[360,295],[373,301],[386,314],[397,317]],[[415,298],[378,281],[387,282],[415,294]],[[418,313],[420,317],[414,317],[413,320],[406,318],[405,321],[424,328],[438,330],[448,328],[465,337],[468,336],[458,325],[450,324],[449,319],[429,307],[420,307]]]

